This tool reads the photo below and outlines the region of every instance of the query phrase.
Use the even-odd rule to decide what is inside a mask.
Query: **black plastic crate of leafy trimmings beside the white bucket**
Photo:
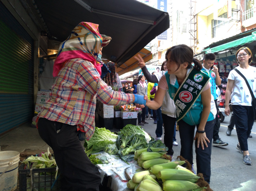
[[[20,191],[57,191],[60,190],[60,178],[55,180],[54,168],[25,168],[22,163],[19,167]],[[32,188],[32,189],[31,189]]]

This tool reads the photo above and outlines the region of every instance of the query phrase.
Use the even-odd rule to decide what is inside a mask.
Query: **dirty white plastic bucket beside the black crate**
[[[17,188],[19,161],[18,151],[0,151],[0,191]]]

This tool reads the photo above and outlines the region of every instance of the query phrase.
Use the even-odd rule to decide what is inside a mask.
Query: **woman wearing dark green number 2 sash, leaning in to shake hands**
[[[165,92],[169,91],[176,106],[180,155],[193,164],[193,142],[196,140],[197,173],[203,173],[204,180],[210,183],[212,134],[217,110],[209,77],[200,71],[202,64],[193,58],[193,50],[187,45],[169,48],[165,59],[168,70],[158,83],[155,99],[147,99],[146,106],[158,109]]]

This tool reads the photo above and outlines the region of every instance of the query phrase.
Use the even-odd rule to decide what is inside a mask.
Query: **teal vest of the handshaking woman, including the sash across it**
[[[189,125],[200,123],[203,111],[201,92],[208,84],[210,78],[196,69],[191,69],[179,86],[170,84],[170,75],[166,72],[165,77],[169,87],[169,95],[174,100],[176,106],[177,122],[181,119]]]

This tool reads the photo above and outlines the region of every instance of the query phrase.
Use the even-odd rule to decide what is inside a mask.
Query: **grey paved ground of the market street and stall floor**
[[[252,159],[252,165],[243,163],[243,156],[236,149],[237,135],[235,129],[231,136],[226,136],[227,125],[230,117],[226,117],[221,123],[219,136],[224,142],[228,142],[225,147],[212,147],[212,176],[211,188],[214,191],[255,191],[256,190],[256,122],[252,128],[252,138],[248,138],[248,147]],[[96,119],[97,120],[97,119]],[[149,124],[143,128],[151,136],[155,137],[156,124],[154,120],[147,120]],[[116,131],[116,129],[113,129]],[[162,136],[164,138],[164,136]],[[173,146],[174,155],[180,153],[179,131],[176,131],[176,139],[179,146]],[[83,142],[81,142],[83,144]],[[0,137],[2,151],[19,151],[25,149],[46,150],[48,145],[38,135],[36,128],[31,128],[30,124],[16,128]],[[195,156],[195,154],[194,154]],[[195,158],[194,158],[195,162]],[[196,169],[196,163],[195,169]]]

